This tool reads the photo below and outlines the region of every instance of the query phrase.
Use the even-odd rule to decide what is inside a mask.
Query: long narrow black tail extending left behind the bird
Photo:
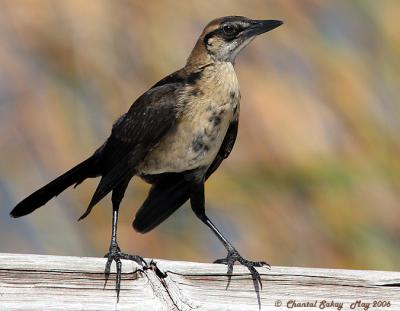
[[[12,217],[21,217],[32,213],[73,184],[77,186],[86,178],[97,176],[97,162],[97,155],[94,154],[22,200],[14,207],[10,215]]]

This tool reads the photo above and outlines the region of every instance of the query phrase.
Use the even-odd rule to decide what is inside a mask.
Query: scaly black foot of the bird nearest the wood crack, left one
[[[115,290],[117,292],[117,301],[119,301],[119,292],[121,289],[121,272],[122,272],[121,259],[133,260],[145,268],[147,268],[147,262],[140,256],[122,253],[118,244],[111,244],[109,252],[107,254],[105,254],[104,257],[107,258],[106,268],[104,270],[104,274],[105,274],[105,278],[106,278],[104,287],[106,287],[108,278],[110,277],[111,264],[113,261],[115,261],[115,264],[117,266]]]

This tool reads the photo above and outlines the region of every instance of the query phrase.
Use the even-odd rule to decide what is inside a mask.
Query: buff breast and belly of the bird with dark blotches
[[[146,156],[140,174],[182,172],[212,163],[229,124],[238,117],[239,85],[229,65],[218,73],[203,72],[198,83],[187,87],[174,130]]]

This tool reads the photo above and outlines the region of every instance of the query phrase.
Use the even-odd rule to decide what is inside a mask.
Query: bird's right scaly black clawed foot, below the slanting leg
[[[271,266],[268,263],[266,263],[265,261],[250,261],[250,260],[244,259],[236,249],[229,250],[226,258],[217,259],[216,261],[214,261],[214,263],[221,263],[221,264],[225,264],[228,266],[228,278],[229,278],[228,286],[231,281],[233,265],[235,264],[236,261],[238,261],[240,264],[242,264],[247,269],[249,269],[251,276],[253,277],[253,280],[255,282],[258,282],[258,284],[260,284],[260,288],[262,288],[261,276],[255,267],[266,266],[268,269],[270,269]],[[254,283],[254,284],[256,284],[256,283]]]

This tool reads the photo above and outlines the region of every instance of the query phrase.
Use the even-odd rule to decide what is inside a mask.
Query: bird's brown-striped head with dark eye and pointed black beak
[[[189,62],[196,57],[207,57],[212,61],[233,63],[237,54],[256,36],[282,24],[278,20],[252,20],[243,16],[217,18],[204,28]]]

